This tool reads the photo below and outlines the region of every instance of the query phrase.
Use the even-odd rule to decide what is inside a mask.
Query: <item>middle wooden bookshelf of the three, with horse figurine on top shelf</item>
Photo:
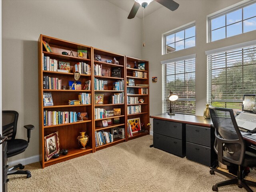
[[[118,64],[114,62],[114,58]],[[126,130],[126,96],[125,96],[125,59],[124,55],[93,48],[93,95],[94,95],[94,151],[124,142],[124,138],[113,138],[112,142],[100,144],[97,137],[99,132],[109,132],[112,134],[112,128],[124,128]],[[114,73],[120,72],[120,76],[113,77]],[[102,84],[103,82],[103,84]],[[118,87],[114,86],[119,82]],[[115,88],[114,88],[115,87]],[[114,95],[121,95],[122,101],[113,98]],[[103,96],[103,101],[98,102],[97,96]],[[120,109],[120,114],[108,115],[114,108]],[[105,116],[98,116],[97,110],[106,111]],[[112,113],[112,112],[111,112]],[[96,116],[97,114],[97,116]],[[114,122],[119,118],[119,122]],[[103,126],[102,120],[107,120],[110,124]],[[118,121],[118,120],[117,120]]]

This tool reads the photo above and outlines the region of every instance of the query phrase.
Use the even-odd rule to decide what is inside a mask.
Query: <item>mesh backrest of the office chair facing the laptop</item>
[[[215,128],[218,161],[223,164],[241,165],[245,156],[245,141],[238,128],[232,109],[209,106],[212,124]]]

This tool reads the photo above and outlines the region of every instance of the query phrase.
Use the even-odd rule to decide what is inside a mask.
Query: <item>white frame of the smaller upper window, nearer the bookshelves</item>
[[[162,55],[165,55],[165,54],[168,54],[168,53],[172,53],[172,52],[166,53],[166,37],[170,36],[172,34],[181,32],[181,31],[184,31],[184,39],[182,39],[182,40],[184,40],[184,49],[188,49],[188,48],[185,48],[185,40],[189,39],[189,38],[192,38],[192,37],[194,37],[196,39],[196,28],[195,28],[195,36],[192,36],[192,37],[189,37],[189,38],[185,38],[185,36],[186,36],[185,30],[188,29],[188,28],[191,28],[191,27],[196,27],[196,22],[195,21],[190,22],[188,24],[185,24],[183,26],[180,26],[178,28],[175,28],[173,30],[170,30],[168,32],[163,33],[162,34]],[[182,41],[182,40],[180,40],[180,41]],[[179,42],[179,41],[177,41],[177,42]],[[176,43],[176,41],[174,41],[174,43]],[[196,42],[195,42],[195,46],[196,46]],[[193,46],[193,47],[195,47],[195,46]],[[191,48],[191,47],[189,47],[189,48]],[[181,49],[181,50],[184,50],[184,49]],[[176,52],[176,51],[174,50],[173,52]]]

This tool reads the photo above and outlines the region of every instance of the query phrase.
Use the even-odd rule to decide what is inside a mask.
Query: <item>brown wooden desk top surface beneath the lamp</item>
[[[210,127],[210,125],[212,124],[212,120],[205,119],[203,116],[185,115],[185,114],[168,115],[167,113],[163,113],[163,114],[151,115],[150,118],[165,120],[165,121],[172,121],[172,122],[179,122],[179,123],[186,123],[186,124],[204,126],[204,127]]]

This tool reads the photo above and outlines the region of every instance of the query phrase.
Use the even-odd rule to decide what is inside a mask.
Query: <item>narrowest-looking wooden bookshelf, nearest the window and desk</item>
[[[150,122],[149,118],[149,76],[148,76],[148,61],[140,60],[132,57],[125,57],[126,60],[126,107],[127,120],[140,118],[140,123],[144,123],[144,132],[134,132],[132,136],[129,135],[126,129],[126,140],[131,140],[141,136],[150,134],[147,124]],[[135,67],[136,62],[136,68]],[[142,65],[145,64],[145,65]],[[138,69],[138,66],[144,66],[143,70]],[[134,84],[131,84],[134,82]],[[138,85],[140,84],[140,85]],[[141,86],[148,85],[148,86]],[[130,99],[128,99],[130,97]],[[130,101],[131,98],[135,101]],[[135,98],[135,99],[134,99]],[[143,99],[143,102],[137,100]],[[129,102],[130,101],[130,102]],[[141,125],[140,125],[141,126]]]

